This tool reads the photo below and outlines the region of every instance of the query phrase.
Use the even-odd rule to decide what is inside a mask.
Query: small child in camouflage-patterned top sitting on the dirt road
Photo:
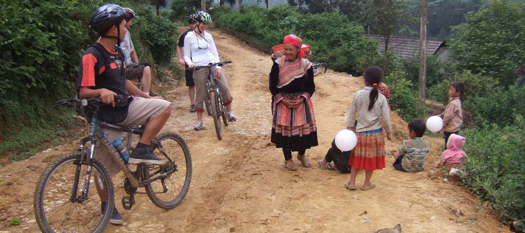
[[[402,172],[421,172],[425,170],[425,157],[430,151],[430,144],[423,139],[425,123],[420,120],[408,124],[410,139],[403,141],[399,147],[394,168]]]

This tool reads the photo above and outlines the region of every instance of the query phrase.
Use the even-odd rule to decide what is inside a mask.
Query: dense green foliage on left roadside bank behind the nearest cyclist
[[[156,63],[169,61],[176,51],[176,28],[154,16],[152,6],[115,3],[140,16],[131,28],[138,56],[150,63],[155,63],[152,58]],[[0,154],[24,154],[29,147],[64,136],[73,122],[72,112],[51,106],[59,98],[74,96],[80,57],[99,37],[88,28],[89,19],[102,4],[0,1]]]

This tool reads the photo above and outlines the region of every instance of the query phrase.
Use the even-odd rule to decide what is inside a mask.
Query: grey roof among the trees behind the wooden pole
[[[370,37],[369,37],[370,36]],[[370,34],[365,35],[370,39],[376,41],[379,50],[385,51],[385,39],[382,35]],[[438,51],[439,47],[446,47],[444,40],[428,40],[426,41],[426,54],[434,55]],[[388,42],[388,50],[394,50],[397,56],[404,58],[412,57],[419,53],[419,38],[410,38],[410,37],[401,37],[401,36],[391,36],[390,41]]]

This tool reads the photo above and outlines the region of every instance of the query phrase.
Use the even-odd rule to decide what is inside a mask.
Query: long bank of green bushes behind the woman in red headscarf
[[[252,5],[242,6],[240,14],[230,8],[214,9],[212,17],[220,27],[249,35],[266,51],[295,34],[310,45],[313,60],[331,57],[330,68],[336,71],[360,73],[364,66],[379,62],[377,45],[364,38],[363,27],[337,13],[301,14],[289,5],[270,9]]]

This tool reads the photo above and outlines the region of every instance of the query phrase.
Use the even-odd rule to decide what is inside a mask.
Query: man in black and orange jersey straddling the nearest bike
[[[124,52],[118,46],[127,31],[125,14],[122,7],[107,4],[99,7],[91,17],[89,26],[101,37],[97,43],[86,49],[80,60],[78,96],[80,99],[102,98],[102,102],[107,105],[100,107],[97,118],[101,121],[124,126],[145,125],[144,133],[133,149],[128,163],[164,164],[166,161],[148,150],[148,145],[170,117],[171,103],[161,97],[150,97],[135,87],[131,81],[126,80]],[[117,94],[126,99],[115,99],[114,96]],[[130,95],[133,97],[129,97]],[[111,142],[122,137],[122,131],[104,129],[104,133]],[[118,164],[113,161],[107,150],[98,150],[95,157],[112,175],[120,172]],[[97,189],[99,194],[105,192],[104,187],[97,185]],[[100,196],[102,211],[104,211],[107,208],[103,200],[105,195]],[[123,223],[122,217],[114,206],[110,223]]]

